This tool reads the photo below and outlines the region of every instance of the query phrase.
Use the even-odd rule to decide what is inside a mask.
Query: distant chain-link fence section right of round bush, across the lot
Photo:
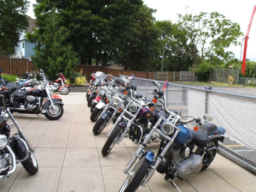
[[[239,70],[212,68],[211,81],[226,84],[238,84]]]

